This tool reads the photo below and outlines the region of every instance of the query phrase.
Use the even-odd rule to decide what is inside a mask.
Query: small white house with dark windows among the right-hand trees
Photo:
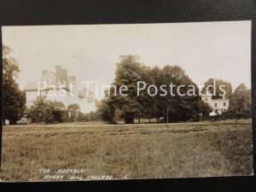
[[[215,116],[217,114],[222,114],[229,109],[230,100],[225,99],[223,96],[222,99],[212,99],[212,96],[209,94],[201,94],[201,99],[203,102],[206,102],[209,107],[212,108],[210,116]]]

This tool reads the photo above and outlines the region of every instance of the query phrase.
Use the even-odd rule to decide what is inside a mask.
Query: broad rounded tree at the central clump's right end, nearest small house
[[[162,83],[172,84],[172,93],[168,92],[167,96],[160,98],[160,110],[167,113],[169,122],[198,120],[200,113],[205,111],[205,105],[201,102],[201,96],[198,95],[198,86],[189,78],[181,67],[167,65],[162,69]],[[177,87],[183,85],[179,90]],[[188,95],[188,91],[191,95]],[[168,108],[168,110],[166,109]]]

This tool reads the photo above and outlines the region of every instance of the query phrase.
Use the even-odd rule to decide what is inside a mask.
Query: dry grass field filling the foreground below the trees
[[[46,168],[49,172],[38,172]],[[79,169],[79,173],[59,173]],[[3,181],[253,174],[252,123],[3,126]],[[50,176],[56,176],[49,178]],[[61,176],[61,177],[57,177]],[[92,176],[92,177],[89,177]]]

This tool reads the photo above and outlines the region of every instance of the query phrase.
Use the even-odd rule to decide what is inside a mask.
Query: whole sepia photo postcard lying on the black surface
[[[253,175],[250,20],[2,35],[2,181]]]

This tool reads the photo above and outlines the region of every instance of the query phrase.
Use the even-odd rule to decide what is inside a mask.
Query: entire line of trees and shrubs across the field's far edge
[[[65,108],[62,102],[47,101],[46,97],[38,96],[29,108],[26,108],[25,90],[20,90],[16,79],[20,68],[18,62],[10,55],[11,49],[3,45],[3,119],[9,119],[11,124],[20,119],[24,114],[32,118],[33,122],[40,123],[63,123],[71,121],[90,121],[95,119],[108,120],[115,123],[124,120],[126,124],[134,123],[134,119],[157,119],[178,122],[198,121],[209,119],[212,111],[207,103],[201,101],[201,96],[179,96],[167,93],[166,96],[149,96],[146,91],[141,90],[137,96],[137,82],[154,84],[157,89],[165,84],[174,84],[173,90],[177,92],[179,84],[185,85],[181,93],[189,91],[189,85],[195,86],[195,92],[199,87],[178,66],[166,65],[165,67],[148,67],[139,62],[137,55],[121,55],[116,66],[113,84],[119,90],[125,85],[128,89],[113,94],[113,87],[105,91],[102,101],[96,103],[96,112],[81,113],[78,104],[72,104]],[[245,84],[240,84],[234,92],[229,82],[222,79],[208,79],[202,88],[206,93],[207,85],[224,84],[226,98],[230,99],[230,108],[222,114],[224,119],[251,118],[251,90]],[[149,90],[154,91],[154,90]],[[213,90],[210,89],[210,92]],[[124,96],[124,92],[125,95]],[[212,99],[220,98],[220,90],[216,89],[216,95]]]

